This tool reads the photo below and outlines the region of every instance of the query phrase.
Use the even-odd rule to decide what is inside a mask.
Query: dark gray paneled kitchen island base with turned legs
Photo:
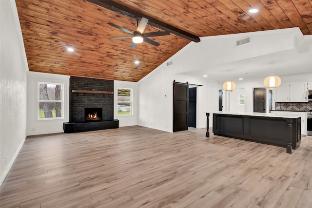
[[[206,136],[209,136],[209,113],[206,115]],[[292,153],[292,149],[297,149],[301,143],[301,118],[214,113],[213,132],[219,136],[285,147],[287,153]]]

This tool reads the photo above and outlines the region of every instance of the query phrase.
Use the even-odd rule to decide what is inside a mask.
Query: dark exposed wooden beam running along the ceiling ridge
[[[164,31],[169,31],[170,33],[173,33],[177,36],[189,39],[189,40],[194,41],[194,42],[200,42],[199,37],[197,37],[195,35],[192,35],[186,31],[180,30],[180,29],[178,29],[172,25],[169,25],[165,22],[154,19],[150,16],[144,15],[140,12],[137,12],[133,9],[130,9],[129,7],[123,6],[123,5],[121,5],[115,1],[112,1],[112,0],[87,0],[87,1],[90,1],[92,3],[95,3],[99,6],[106,8],[106,9],[112,10],[114,12],[117,12],[119,14],[122,14],[124,16],[130,17],[133,19],[136,19],[136,17],[140,17],[140,18],[144,17],[144,18],[149,20],[148,24],[151,26],[157,27],[157,28],[164,30]]]

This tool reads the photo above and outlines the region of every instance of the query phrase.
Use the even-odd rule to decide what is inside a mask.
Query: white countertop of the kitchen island
[[[272,112],[272,113],[254,113],[254,112],[225,112],[225,111],[216,111],[216,112],[207,112],[207,113],[218,113],[218,114],[229,114],[229,115],[250,115],[250,116],[262,116],[262,117],[277,117],[277,118],[299,118],[302,116],[300,113],[281,113],[281,112]]]

